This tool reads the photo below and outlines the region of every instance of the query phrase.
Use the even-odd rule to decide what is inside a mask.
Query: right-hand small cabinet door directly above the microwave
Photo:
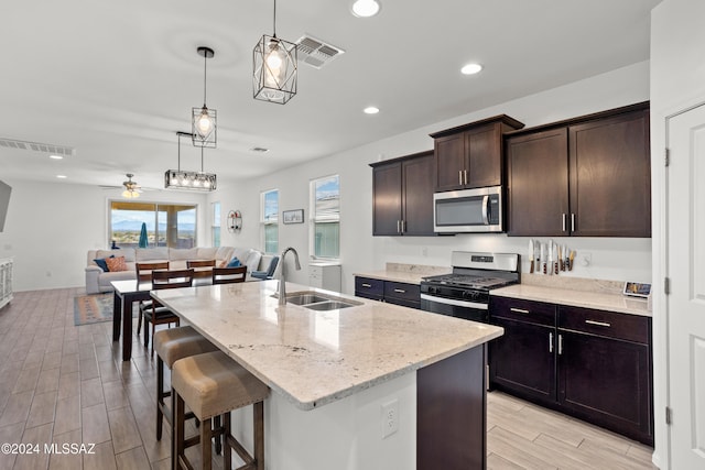
[[[499,186],[502,184],[502,153],[500,124],[485,125],[465,133],[468,159],[466,187]]]

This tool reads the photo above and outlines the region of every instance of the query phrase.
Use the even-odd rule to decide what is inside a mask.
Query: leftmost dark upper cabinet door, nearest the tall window
[[[372,171],[372,234],[395,236],[401,230],[401,163]]]

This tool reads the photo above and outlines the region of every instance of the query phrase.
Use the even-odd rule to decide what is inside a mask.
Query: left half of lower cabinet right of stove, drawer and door
[[[551,405],[556,396],[556,307],[552,304],[490,297],[490,323],[505,335],[489,343],[492,389]]]

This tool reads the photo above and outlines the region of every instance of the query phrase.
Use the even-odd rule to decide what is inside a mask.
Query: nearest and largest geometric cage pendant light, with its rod
[[[276,37],[276,0],[274,34],[262,35],[252,52],[252,88],[254,99],[285,105],[296,95],[296,44]]]

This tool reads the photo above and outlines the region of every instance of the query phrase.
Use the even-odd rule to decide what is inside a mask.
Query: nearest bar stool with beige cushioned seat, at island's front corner
[[[210,440],[224,436],[224,468],[231,468],[235,450],[245,464],[238,470],[264,470],[264,398],[269,387],[225,352],[206,352],[174,362],[172,390],[176,397],[174,413],[173,468],[192,468],[186,459],[187,447],[200,444],[203,469],[212,468]],[[186,439],[184,409],[187,405],[200,419],[200,435]],[[254,451],[251,456],[230,433],[230,412],[253,405]],[[212,428],[213,418],[221,416],[223,426]]]

